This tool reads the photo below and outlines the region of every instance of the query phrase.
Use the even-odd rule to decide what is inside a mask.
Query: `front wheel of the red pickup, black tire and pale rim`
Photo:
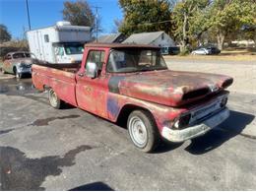
[[[145,110],[131,112],[127,128],[133,144],[143,152],[154,151],[160,143],[160,133],[153,115]]]

